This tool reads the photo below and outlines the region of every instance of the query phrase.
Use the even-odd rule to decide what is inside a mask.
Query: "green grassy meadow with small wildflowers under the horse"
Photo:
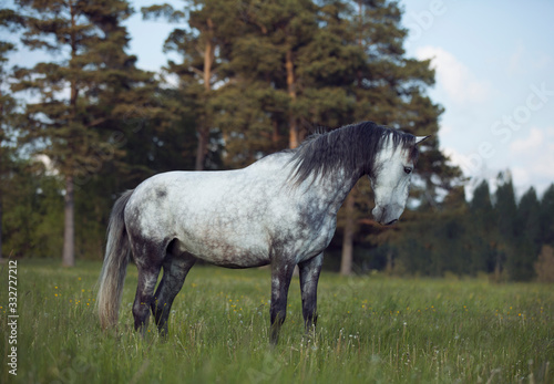
[[[554,383],[554,287],[486,280],[343,278],[324,272],[318,329],[302,330],[298,278],[269,346],[267,269],[196,266],[170,338],[132,330],[129,266],[120,328],[100,330],[100,262],[18,261],[18,375],[8,373],[8,271],[1,264],[0,382]]]

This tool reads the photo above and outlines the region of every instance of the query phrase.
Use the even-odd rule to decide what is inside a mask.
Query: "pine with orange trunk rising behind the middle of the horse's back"
[[[217,97],[217,126],[225,142],[226,165],[247,165],[265,154],[296,147],[316,103],[302,72],[307,45],[317,32],[311,1],[244,1],[228,44],[228,81]],[[314,94],[314,93],[311,93]],[[311,111],[310,111],[311,108]]]

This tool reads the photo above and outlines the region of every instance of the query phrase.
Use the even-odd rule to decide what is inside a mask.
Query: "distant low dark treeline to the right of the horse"
[[[554,185],[516,199],[510,172],[496,189],[483,180],[466,199],[458,187],[438,209],[404,212],[398,228],[377,228],[370,262],[394,274],[478,276],[494,281],[554,281]],[[363,239],[360,239],[363,241]],[[368,250],[371,248],[368,247]]]

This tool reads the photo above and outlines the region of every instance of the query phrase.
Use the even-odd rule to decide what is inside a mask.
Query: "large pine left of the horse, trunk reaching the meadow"
[[[39,97],[27,104],[21,132],[64,179],[63,264],[73,266],[75,184],[115,156],[110,129],[115,120],[136,113],[136,94],[130,97],[127,91],[148,82],[150,74],[136,70],[136,58],[124,53],[129,38],[121,21],[132,13],[126,1],[19,0],[17,6],[25,19],[22,43],[63,54],[55,62],[18,69],[12,90]]]

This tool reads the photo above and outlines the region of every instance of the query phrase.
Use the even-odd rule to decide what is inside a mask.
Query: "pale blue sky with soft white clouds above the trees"
[[[471,177],[468,195],[483,179],[494,189],[497,174],[509,169],[519,196],[533,186],[541,197],[554,183],[554,1],[400,3],[407,56],[430,59],[435,70],[428,94],[445,110],[440,148]],[[140,13],[125,24],[137,66],[158,71],[168,59],[162,44],[176,25]],[[39,56],[20,50],[11,61],[29,66]]]

